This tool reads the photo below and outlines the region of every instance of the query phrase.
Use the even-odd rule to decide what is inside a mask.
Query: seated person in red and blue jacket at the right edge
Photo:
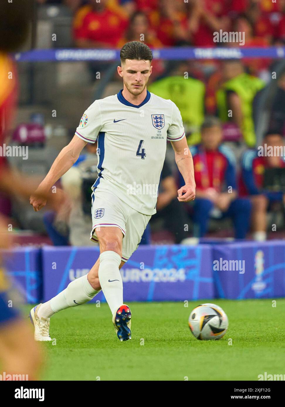
[[[252,201],[252,231],[253,238],[257,241],[266,240],[266,213],[276,203],[285,204],[285,185],[281,185],[281,178],[285,177],[285,161],[283,153],[280,155],[265,156],[269,154],[269,147],[283,149],[284,138],[281,134],[269,132],[263,140],[263,150],[247,150],[242,159],[242,173],[240,180],[240,195],[250,196]],[[262,154],[263,152],[263,154]],[[262,155],[261,155],[262,154]],[[283,176],[276,171],[283,168]],[[265,171],[267,180],[265,180]],[[273,171],[272,171],[273,170]],[[277,184],[276,184],[277,181]],[[280,184],[278,185],[278,183]]]

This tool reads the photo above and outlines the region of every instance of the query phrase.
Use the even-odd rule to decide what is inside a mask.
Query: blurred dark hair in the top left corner
[[[30,0],[1,1],[0,7],[0,50],[19,50],[27,39],[33,14]]]

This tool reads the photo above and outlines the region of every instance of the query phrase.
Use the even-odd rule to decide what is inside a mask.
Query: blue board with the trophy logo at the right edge
[[[216,298],[285,296],[285,242],[243,242],[213,246]]]

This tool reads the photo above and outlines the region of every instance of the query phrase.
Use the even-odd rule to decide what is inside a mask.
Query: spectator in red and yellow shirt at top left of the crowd
[[[128,25],[125,11],[117,8],[113,11],[108,0],[89,0],[75,14],[73,35],[79,48],[116,47]]]

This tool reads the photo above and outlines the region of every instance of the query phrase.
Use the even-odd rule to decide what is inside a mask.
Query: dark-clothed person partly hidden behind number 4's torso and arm
[[[161,171],[156,209],[157,213],[152,215],[150,225],[162,218],[164,228],[175,236],[175,243],[181,243],[189,237],[189,232],[184,230],[189,223],[186,207],[177,200],[177,185],[166,161]]]

